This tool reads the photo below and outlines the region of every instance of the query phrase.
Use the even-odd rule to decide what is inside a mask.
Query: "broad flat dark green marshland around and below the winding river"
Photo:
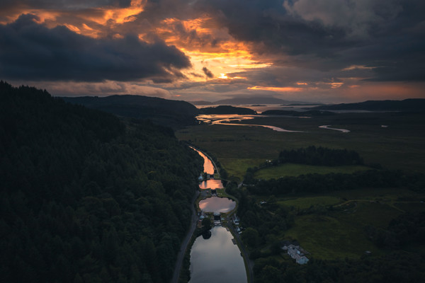
[[[176,137],[191,141],[214,154],[231,174],[275,159],[282,149],[310,145],[331,149],[351,149],[366,164],[385,168],[425,171],[425,117],[392,113],[345,113],[326,117],[258,117],[244,124],[273,125],[305,132],[276,132],[263,127],[198,125],[181,129]],[[320,125],[349,129],[342,133],[320,129]],[[388,127],[381,127],[387,125]],[[256,160],[259,161],[258,164]]]

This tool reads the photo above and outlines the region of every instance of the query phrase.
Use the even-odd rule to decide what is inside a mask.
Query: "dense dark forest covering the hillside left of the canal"
[[[168,282],[202,158],[173,132],[0,82],[4,282]]]

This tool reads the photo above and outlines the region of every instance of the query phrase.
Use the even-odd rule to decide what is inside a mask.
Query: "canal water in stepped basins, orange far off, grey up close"
[[[192,148],[194,149],[194,148]],[[196,150],[196,149],[194,149]],[[198,150],[196,150],[198,151]],[[209,163],[214,166],[205,154],[198,151],[204,158],[204,166],[209,168]],[[204,157],[205,156],[205,157]],[[204,169],[205,170],[205,169]],[[208,169],[210,170],[210,169]],[[206,171],[208,173],[208,171]],[[208,183],[208,181],[213,181]],[[207,180],[201,188],[223,187],[221,180]],[[230,212],[236,202],[227,197],[209,197],[199,202],[200,209],[204,212]],[[191,280],[190,283],[216,283],[235,282],[246,283],[246,270],[241,251],[233,240],[233,235],[224,226],[215,226],[211,229],[211,237],[196,238],[191,248]]]

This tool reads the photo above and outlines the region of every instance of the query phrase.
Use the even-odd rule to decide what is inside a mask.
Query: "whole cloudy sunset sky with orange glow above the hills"
[[[423,0],[1,0],[0,79],[53,96],[425,98]]]

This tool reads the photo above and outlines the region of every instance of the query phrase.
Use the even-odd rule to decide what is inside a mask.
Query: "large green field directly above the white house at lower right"
[[[297,216],[285,237],[300,241],[313,258],[359,258],[366,250],[380,254],[382,251],[367,238],[365,227],[385,228],[401,213],[387,204],[362,202],[355,211]]]

